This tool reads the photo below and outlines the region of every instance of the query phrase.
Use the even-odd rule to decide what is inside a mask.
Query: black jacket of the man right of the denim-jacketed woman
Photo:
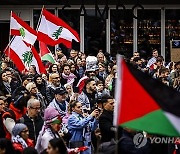
[[[99,117],[99,128],[101,130],[102,142],[111,141],[115,137],[113,128],[113,112],[103,110],[103,113]]]

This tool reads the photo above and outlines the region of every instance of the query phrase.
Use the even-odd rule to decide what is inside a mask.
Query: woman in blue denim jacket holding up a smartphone
[[[91,132],[97,128],[99,111],[95,109],[89,116],[84,117],[82,104],[79,101],[73,101],[70,104],[70,111],[68,129],[72,137],[69,142],[69,148],[87,146],[88,149],[82,152],[82,154],[91,154]]]

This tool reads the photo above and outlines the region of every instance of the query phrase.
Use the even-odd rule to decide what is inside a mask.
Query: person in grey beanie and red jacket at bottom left
[[[18,152],[23,152],[27,147],[34,147],[33,140],[29,139],[29,130],[25,124],[17,123],[12,129],[13,147]]]

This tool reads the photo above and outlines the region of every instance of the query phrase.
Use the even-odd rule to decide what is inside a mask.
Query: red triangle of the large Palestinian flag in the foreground
[[[122,61],[121,92],[119,124],[142,117],[160,108],[150,94],[134,78],[124,61]]]

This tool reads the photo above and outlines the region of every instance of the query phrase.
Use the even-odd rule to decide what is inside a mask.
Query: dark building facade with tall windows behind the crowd
[[[85,53],[104,52],[130,57],[139,51],[150,56],[157,48],[166,61],[171,60],[171,42],[180,40],[180,5],[45,5],[79,34],[75,48]],[[108,6],[108,8],[107,8]],[[97,8],[98,7],[98,8]],[[42,5],[0,6],[0,50],[7,46],[10,12],[14,11],[34,29],[37,28]],[[81,11],[80,11],[81,10]],[[54,48],[52,48],[54,50]]]

